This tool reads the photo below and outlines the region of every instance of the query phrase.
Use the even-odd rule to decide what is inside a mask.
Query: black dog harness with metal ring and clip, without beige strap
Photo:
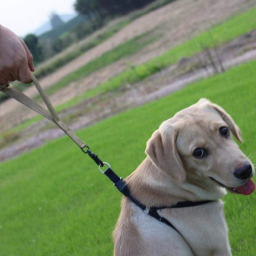
[[[83,150],[84,151],[84,150]],[[183,208],[183,207],[192,207],[192,206],[198,206],[202,204],[207,204],[213,202],[212,200],[204,200],[204,201],[183,201],[183,202],[178,202],[177,204],[174,204],[172,206],[151,206],[147,207],[146,205],[142,204],[139,202],[136,198],[134,198],[130,192],[130,189],[128,188],[126,182],[120,178],[116,173],[111,169],[110,165],[107,162],[102,162],[98,155],[95,155],[94,153],[91,152],[90,148],[87,151],[84,151],[84,153],[88,154],[94,162],[99,166],[100,172],[102,174],[105,174],[116,186],[116,188],[127,198],[129,198],[134,204],[139,206],[146,214],[150,215],[151,217],[155,218],[158,221],[161,221],[168,225],[169,227],[173,228],[177,233],[180,234],[180,236],[183,238],[183,240],[187,243],[188,247],[190,248],[191,252],[193,255],[196,255],[191,246],[189,245],[188,241],[186,238],[180,233],[180,231],[175,228],[175,226],[167,219],[164,217],[160,216],[159,213],[157,212],[158,210],[163,210],[163,209],[172,209],[172,208]],[[101,170],[100,167],[102,167],[104,164],[108,165],[108,169],[104,172]]]

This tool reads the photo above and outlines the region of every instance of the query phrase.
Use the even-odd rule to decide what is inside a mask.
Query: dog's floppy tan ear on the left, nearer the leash
[[[156,167],[182,182],[186,171],[177,151],[178,129],[170,125],[161,125],[147,142],[146,154]]]

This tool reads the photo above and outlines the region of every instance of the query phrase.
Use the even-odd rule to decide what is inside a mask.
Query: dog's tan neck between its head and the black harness
[[[148,157],[125,181],[132,196],[148,207],[169,206],[181,201],[217,200],[226,194],[225,188],[196,173],[188,173],[182,183],[175,182]]]

